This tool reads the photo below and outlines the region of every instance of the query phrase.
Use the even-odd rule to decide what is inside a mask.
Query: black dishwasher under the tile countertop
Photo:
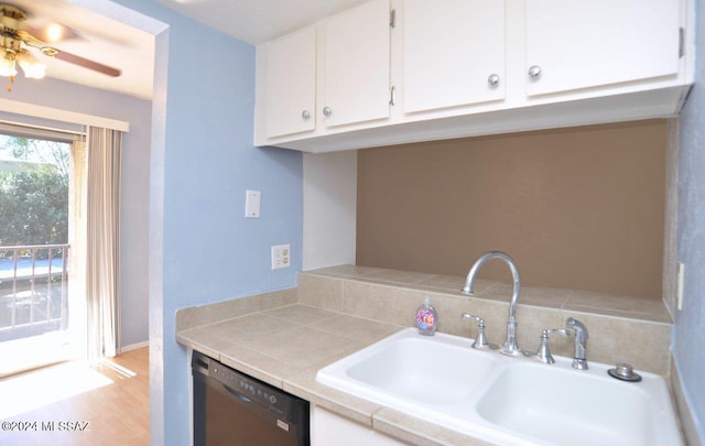
[[[308,402],[193,352],[195,446],[308,446]]]

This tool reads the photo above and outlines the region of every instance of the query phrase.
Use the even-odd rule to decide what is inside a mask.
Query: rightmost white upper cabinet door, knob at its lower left
[[[529,96],[677,74],[679,0],[525,2]]]

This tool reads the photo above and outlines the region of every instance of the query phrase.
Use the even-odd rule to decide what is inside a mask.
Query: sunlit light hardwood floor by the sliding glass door
[[[0,445],[149,445],[149,349],[0,380]]]

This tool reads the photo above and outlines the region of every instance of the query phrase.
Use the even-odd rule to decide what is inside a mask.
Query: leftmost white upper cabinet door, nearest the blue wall
[[[316,126],[316,31],[313,28],[267,47],[267,137]]]

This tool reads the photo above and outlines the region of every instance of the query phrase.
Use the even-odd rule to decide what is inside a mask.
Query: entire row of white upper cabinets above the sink
[[[329,152],[672,117],[694,79],[694,10],[367,0],[258,46],[254,144]]]

